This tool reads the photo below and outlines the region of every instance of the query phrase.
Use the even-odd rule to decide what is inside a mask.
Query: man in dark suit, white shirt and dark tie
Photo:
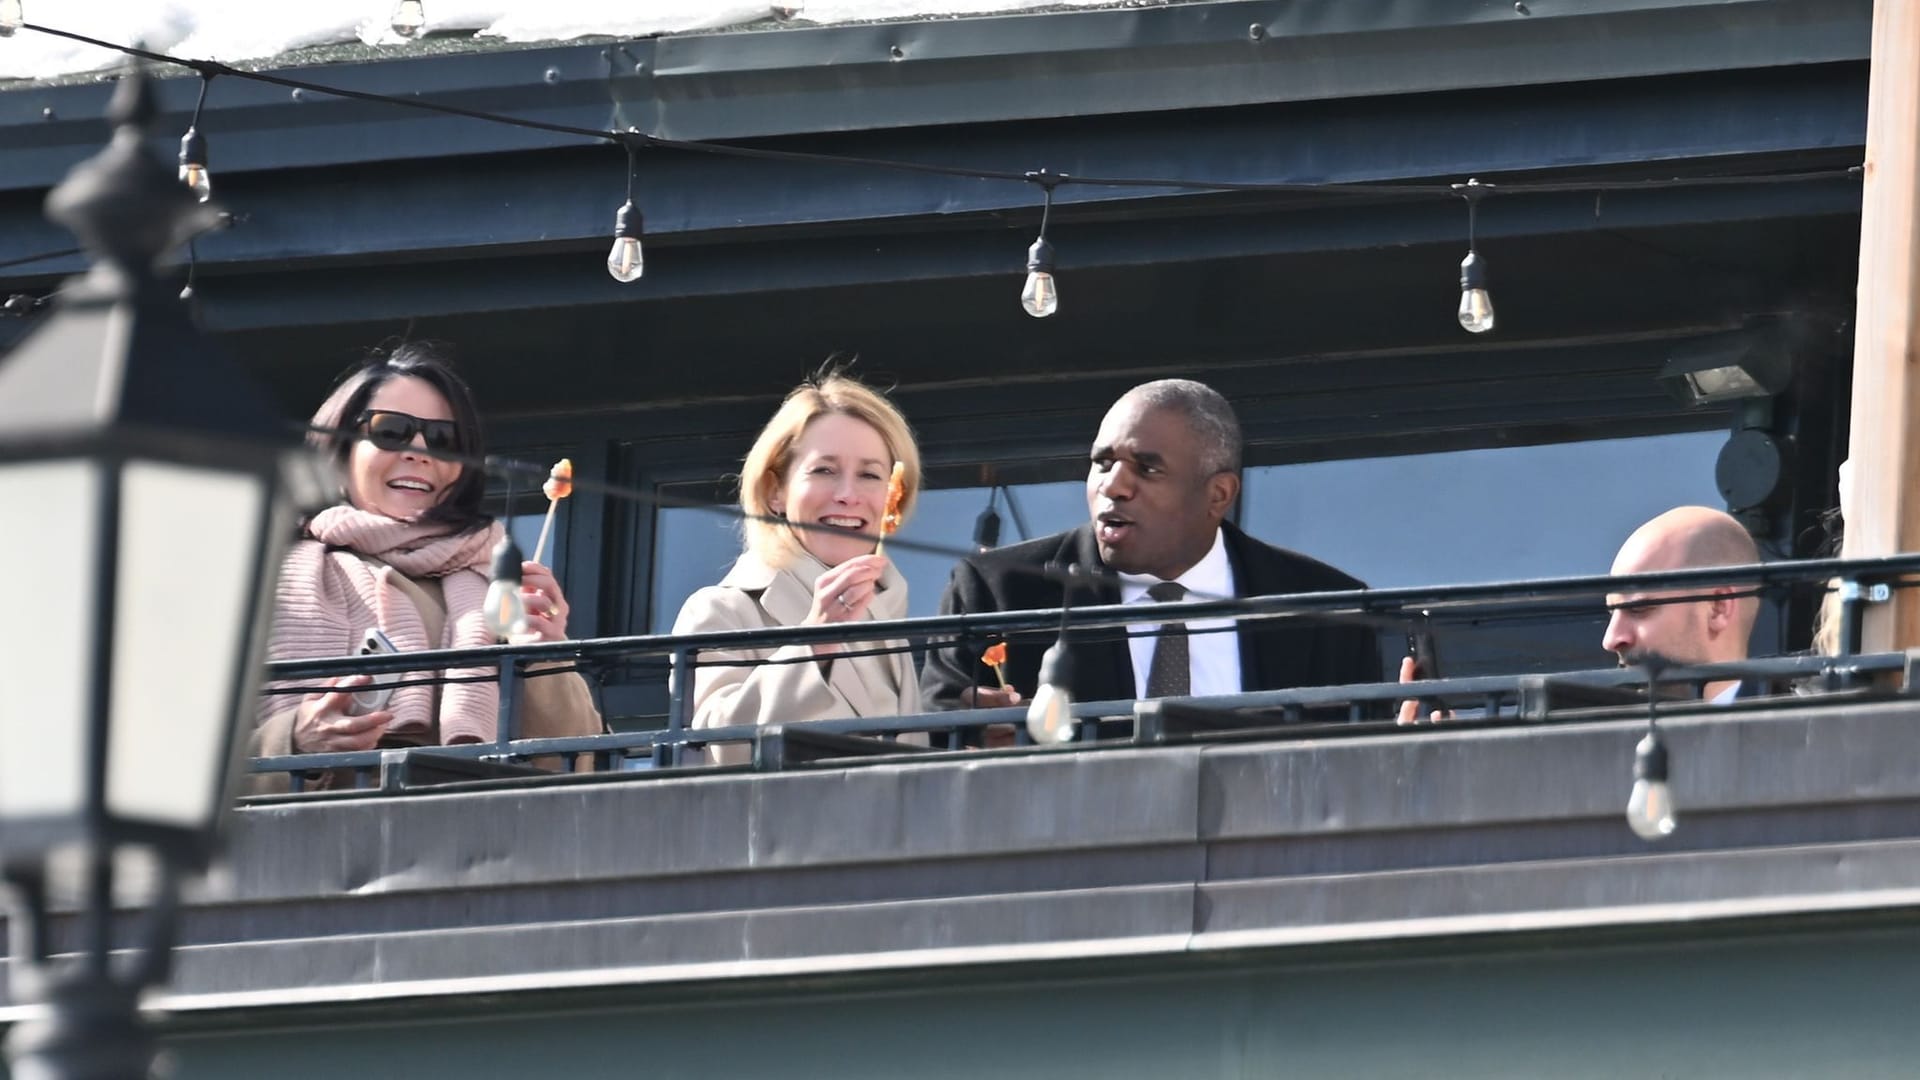
[[[1031,611],[1071,603],[1142,603],[1363,588],[1321,561],[1254,540],[1227,523],[1240,494],[1240,425],[1213,388],[1187,379],[1135,386],[1108,409],[1087,471],[1092,521],[954,567],[943,613]],[[1068,586],[1046,569],[1096,571]],[[1112,573],[1098,573],[1112,571]],[[1171,625],[1142,617],[1135,636],[1083,630],[1073,642],[1079,701],[1235,694],[1377,682],[1375,632],[1308,619]],[[1227,630],[1227,632],[1208,632]],[[929,709],[1016,705],[1039,680],[1050,642],[1008,646],[1000,690],[983,646],[933,650],[920,680]]]

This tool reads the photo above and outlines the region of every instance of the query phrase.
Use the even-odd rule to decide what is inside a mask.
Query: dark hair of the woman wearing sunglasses
[[[486,459],[486,432],[480,429],[480,409],[467,380],[453,371],[451,348],[440,342],[403,342],[390,350],[374,350],[363,363],[348,369],[334,384],[334,392],[313,411],[315,430],[307,432],[307,442],[332,459],[334,467],[346,473],[348,455],[359,442],[359,432],[349,430],[353,421],[367,411],[367,402],[374,392],[394,379],[419,379],[440,390],[453,409],[457,438],[453,450],[467,461],[461,463],[461,479],[453,480],[447,496],[420,515],[420,521],[451,525],[455,532],[470,532],[493,523],[486,513],[486,469],[474,461]]]

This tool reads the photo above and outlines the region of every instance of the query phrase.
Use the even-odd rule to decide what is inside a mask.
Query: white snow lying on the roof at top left
[[[1165,0],[1160,0],[1165,2]],[[374,56],[632,38],[693,31],[1114,8],[1116,0],[422,0],[426,38],[392,27],[396,0],[23,0],[29,23],[192,60],[261,65],[315,46]],[[305,61],[332,60],[321,50]],[[253,63],[248,63],[253,61]],[[113,69],[111,50],[31,31],[0,38],[0,81],[58,81]]]

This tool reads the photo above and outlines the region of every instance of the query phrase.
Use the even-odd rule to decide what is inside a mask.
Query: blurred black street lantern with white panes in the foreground
[[[0,869],[21,901],[13,1076],[146,1076],[134,1003],[163,978],[175,880],[207,865],[255,709],[290,492],[319,473],[194,329],[156,261],[217,211],[144,146],[146,77],[113,140],[46,200],[92,271],[0,359]],[[115,867],[159,867],[132,963],[111,955]],[[125,874],[123,882],[125,884]],[[81,955],[48,957],[48,894]]]

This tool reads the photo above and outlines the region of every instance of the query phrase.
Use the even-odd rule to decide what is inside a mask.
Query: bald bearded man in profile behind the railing
[[[1753,536],[1730,515],[1703,505],[1668,509],[1642,525],[1613,559],[1615,575],[1741,567],[1761,561]],[[1690,590],[1607,594],[1607,636],[1601,644],[1620,665],[1659,657],[1668,665],[1730,663],[1747,659],[1747,638],[1761,615],[1751,586],[1718,584]],[[1668,601],[1674,596],[1701,600]],[[1753,688],[1749,692],[1761,692]],[[1709,682],[1703,696],[1724,705],[1741,694],[1741,680]]]

